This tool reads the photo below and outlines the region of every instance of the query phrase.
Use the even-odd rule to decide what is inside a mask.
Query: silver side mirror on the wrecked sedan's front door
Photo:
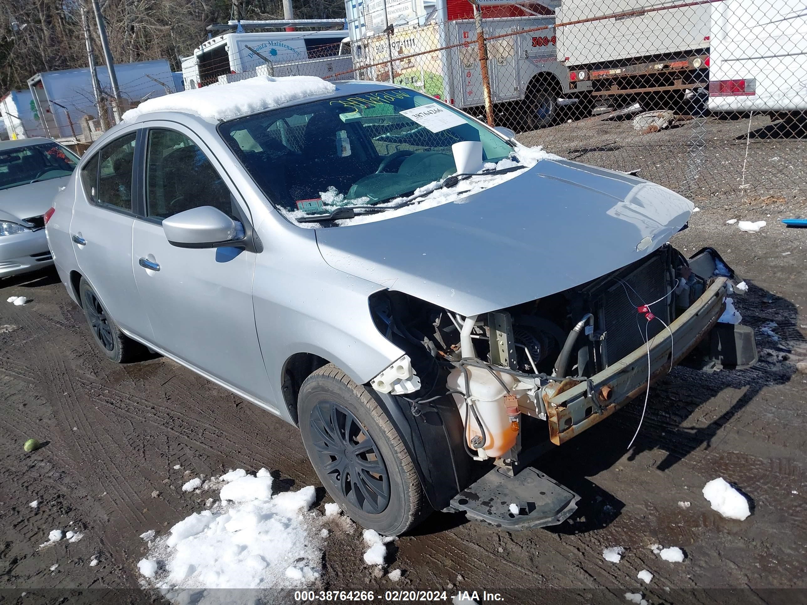
[[[178,248],[223,248],[244,244],[244,227],[212,206],[191,208],[162,221],[168,243]]]

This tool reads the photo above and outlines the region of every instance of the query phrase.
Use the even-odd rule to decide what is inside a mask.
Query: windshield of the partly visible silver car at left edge
[[[26,145],[0,152],[0,190],[66,177],[78,156],[58,143]]]

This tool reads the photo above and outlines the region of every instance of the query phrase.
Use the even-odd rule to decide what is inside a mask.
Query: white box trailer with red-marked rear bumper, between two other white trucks
[[[710,3],[669,0],[563,0],[558,57],[576,90],[591,95],[583,103],[589,108],[619,95],[647,108],[684,102],[686,91],[709,81],[711,10]]]

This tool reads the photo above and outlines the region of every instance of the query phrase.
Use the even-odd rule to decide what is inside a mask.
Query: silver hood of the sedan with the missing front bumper
[[[624,173],[543,160],[458,202],[316,229],[328,265],[461,315],[525,303],[646,257],[692,202]]]

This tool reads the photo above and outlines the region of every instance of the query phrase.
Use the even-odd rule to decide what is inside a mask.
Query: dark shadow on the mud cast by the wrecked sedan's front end
[[[717,373],[675,368],[651,387],[642,427],[627,462],[642,453],[663,453],[654,468],[665,472],[696,450],[713,448],[724,438],[721,429],[730,426],[746,407],[759,402],[765,387],[790,382],[796,372],[795,361],[790,358],[793,350],[807,350],[807,340],[798,330],[797,307],[753,285],[744,297],[735,295],[734,303],[742,313],[742,323],[755,328],[759,362],[750,369]],[[771,322],[776,325],[771,327]],[[780,335],[780,340],[760,328]],[[703,424],[700,416],[707,402],[712,402],[716,411],[723,411]],[[643,403],[644,397],[639,396],[617,414],[536,461],[537,469],[581,496],[574,522],[553,531],[591,531],[617,518],[623,503],[588,478],[618,465],[637,430]],[[742,485],[737,487],[742,491]]]

